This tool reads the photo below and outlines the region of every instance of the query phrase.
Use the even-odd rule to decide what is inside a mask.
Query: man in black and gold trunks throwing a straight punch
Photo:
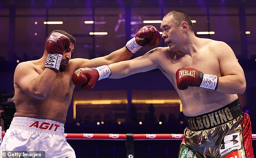
[[[166,14],[161,29],[167,47],[128,61],[78,69],[73,82],[91,89],[100,79],[160,69],[176,89],[189,124],[179,158],[254,158],[250,117],[237,95],[246,89],[244,71],[231,47],[195,36],[189,16],[181,11]]]

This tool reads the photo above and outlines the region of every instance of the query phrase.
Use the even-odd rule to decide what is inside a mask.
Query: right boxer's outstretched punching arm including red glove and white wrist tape
[[[121,61],[119,63],[112,63],[110,65],[103,65],[96,68],[82,67],[74,71],[72,81],[75,86],[91,90],[96,82],[105,78],[120,79],[128,75],[150,71],[158,67],[157,51],[155,48],[143,56],[131,59],[128,61]]]

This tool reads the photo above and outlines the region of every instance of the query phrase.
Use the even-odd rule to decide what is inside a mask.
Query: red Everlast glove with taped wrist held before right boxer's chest
[[[176,71],[176,81],[179,90],[186,90],[189,86],[216,90],[218,76],[203,74],[194,68],[182,67]]]

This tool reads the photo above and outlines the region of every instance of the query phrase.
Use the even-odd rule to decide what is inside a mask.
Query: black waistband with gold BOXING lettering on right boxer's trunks
[[[218,110],[194,117],[186,117],[190,130],[206,130],[237,118],[244,112],[239,99]]]

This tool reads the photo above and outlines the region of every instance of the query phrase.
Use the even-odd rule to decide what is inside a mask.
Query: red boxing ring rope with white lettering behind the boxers
[[[2,132],[2,137],[4,137]],[[65,133],[66,139],[89,139],[89,140],[126,140],[127,134],[88,134],[88,133]],[[182,140],[183,134],[132,134],[134,140]],[[252,140],[256,140],[256,134],[252,134]]]

